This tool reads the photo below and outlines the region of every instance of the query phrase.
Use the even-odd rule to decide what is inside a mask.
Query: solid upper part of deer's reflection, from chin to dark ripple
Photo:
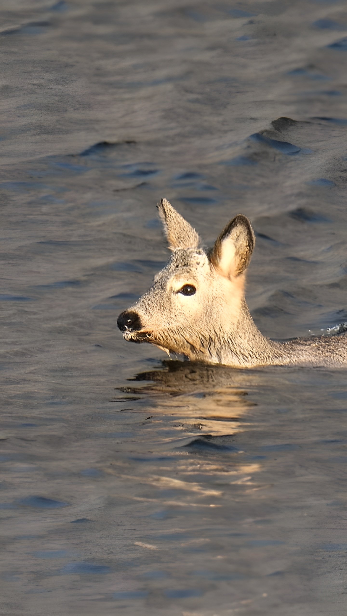
[[[186,436],[199,432],[206,439],[232,437],[245,429],[247,411],[256,405],[244,389],[252,381],[249,371],[235,375],[221,366],[170,360],[162,366],[164,370],[142,372],[131,379],[146,384],[123,391],[150,395],[156,404],[153,413],[174,415]]]

